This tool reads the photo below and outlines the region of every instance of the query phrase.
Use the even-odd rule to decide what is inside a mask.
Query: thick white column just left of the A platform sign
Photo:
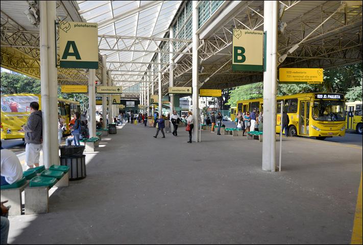
[[[41,111],[43,124],[43,164],[59,165],[58,85],[55,46],[56,3],[40,2]]]

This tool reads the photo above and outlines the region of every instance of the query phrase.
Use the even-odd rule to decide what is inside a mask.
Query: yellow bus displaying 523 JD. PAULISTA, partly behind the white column
[[[344,95],[333,93],[302,93],[277,97],[276,133],[281,128],[281,101],[290,119],[289,136],[317,139],[344,136],[346,129]],[[263,111],[263,99],[237,101],[237,111]]]

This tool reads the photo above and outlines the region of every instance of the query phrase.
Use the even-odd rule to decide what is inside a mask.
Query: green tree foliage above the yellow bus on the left
[[[40,80],[1,72],[1,93],[40,93]]]

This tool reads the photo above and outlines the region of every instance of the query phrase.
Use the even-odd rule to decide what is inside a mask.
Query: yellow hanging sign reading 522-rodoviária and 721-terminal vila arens
[[[321,84],[324,70],[322,68],[280,68],[279,83]]]

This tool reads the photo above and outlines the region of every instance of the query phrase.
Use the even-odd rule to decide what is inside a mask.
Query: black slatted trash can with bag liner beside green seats
[[[69,166],[69,180],[82,180],[86,178],[86,155],[60,156],[60,164]]]

